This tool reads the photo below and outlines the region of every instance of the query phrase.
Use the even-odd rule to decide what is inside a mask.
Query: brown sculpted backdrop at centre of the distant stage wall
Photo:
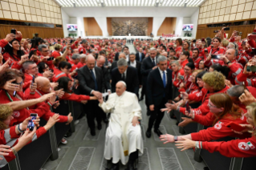
[[[148,18],[112,18],[113,36],[146,36]]]

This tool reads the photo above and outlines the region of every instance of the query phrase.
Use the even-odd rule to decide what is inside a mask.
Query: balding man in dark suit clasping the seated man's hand
[[[77,70],[77,79],[79,79],[79,88],[83,95],[95,95],[98,99],[102,98],[104,91],[104,76],[99,67],[95,67],[95,58],[93,55],[87,56],[87,65]],[[87,123],[91,129],[91,136],[95,136],[95,121],[100,130],[102,109],[99,107],[98,100],[89,100],[84,105],[84,110],[87,111]]]

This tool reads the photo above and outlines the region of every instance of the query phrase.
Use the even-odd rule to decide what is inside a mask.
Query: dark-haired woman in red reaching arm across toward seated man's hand
[[[63,91],[65,91],[65,94],[60,99],[72,100],[83,104],[87,103],[87,100],[97,99],[95,96],[74,94],[72,92],[73,82],[68,77],[59,78],[57,82],[59,83],[59,86],[56,87],[55,90],[63,89]]]

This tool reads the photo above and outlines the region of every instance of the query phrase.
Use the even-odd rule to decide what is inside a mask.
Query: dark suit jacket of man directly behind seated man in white
[[[112,93],[116,92],[116,83],[121,80],[121,74],[118,70],[118,68],[115,68],[112,71]],[[125,81],[126,83],[126,91],[138,94],[139,91],[139,79],[138,79],[138,73],[136,71],[136,68],[128,66],[126,71],[126,77]]]

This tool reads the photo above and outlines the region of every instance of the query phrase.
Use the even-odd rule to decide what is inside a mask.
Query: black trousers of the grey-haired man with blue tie
[[[161,123],[161,120],[164,117],[165,112],[161,111],[161,108],[165,108],[165,99],[162,99],[159,105],[154,106],[154,111],[151,111],[151,115],[148,119],[148,131],[151,131],[153,125],[154,129],[158,129]]]

